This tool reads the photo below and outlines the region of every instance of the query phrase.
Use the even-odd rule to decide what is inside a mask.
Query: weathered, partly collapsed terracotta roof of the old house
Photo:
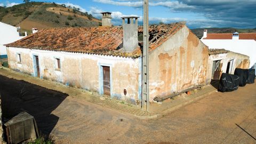
[[[185,26],[182,23],[170,25],[150,26],[150,49],[154,50],[167,38]],[[138,28],[139,33],[143,28]],[[154,39],[154,37],[156,37]],[[150,39],[150,38],[149,38]],[[139,57],[141,51],[138,47],[134,52],[122,52],[122,27],[84,27],[84,28],[52,28],[43,29],[19,41],[6,46],[22,47],[27,49],[81,52],[104,55],[118,55],[122,57]],[[121,46],[121,47],[119,47]]]

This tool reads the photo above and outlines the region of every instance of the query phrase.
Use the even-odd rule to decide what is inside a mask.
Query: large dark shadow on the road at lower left
[[[46,89],[25,81],[0,76],[0,94],[4,122],[21,111],[34,116],[39,134],[48,138],[59,117],[52,115],[67,94]]]

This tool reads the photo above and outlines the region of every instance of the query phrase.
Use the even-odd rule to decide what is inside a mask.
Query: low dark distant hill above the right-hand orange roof
[[[193,33],[198,37],[202,38],[204,29],[207,29],[207,33],[256,33],[256,29],[236,29],[236,28],[197,28],[191,29]]]

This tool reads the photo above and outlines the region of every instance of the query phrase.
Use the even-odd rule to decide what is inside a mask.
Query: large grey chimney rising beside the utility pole
[[[126,52],[132,52],[138,47],[138,18],[122,17],[123,19],[123,43]],[[125,22],[127,19],[127,23]],[[134,22],[135,20],[135,22]]]

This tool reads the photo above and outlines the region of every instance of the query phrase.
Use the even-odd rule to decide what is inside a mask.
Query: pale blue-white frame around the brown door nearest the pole
[[[108,63],[99,63],[99,94],[104,94],[103,87],[103,67],[109,67],[110,73],[110,98],[113,98],[113,78],[112,78],[112,65]]]

